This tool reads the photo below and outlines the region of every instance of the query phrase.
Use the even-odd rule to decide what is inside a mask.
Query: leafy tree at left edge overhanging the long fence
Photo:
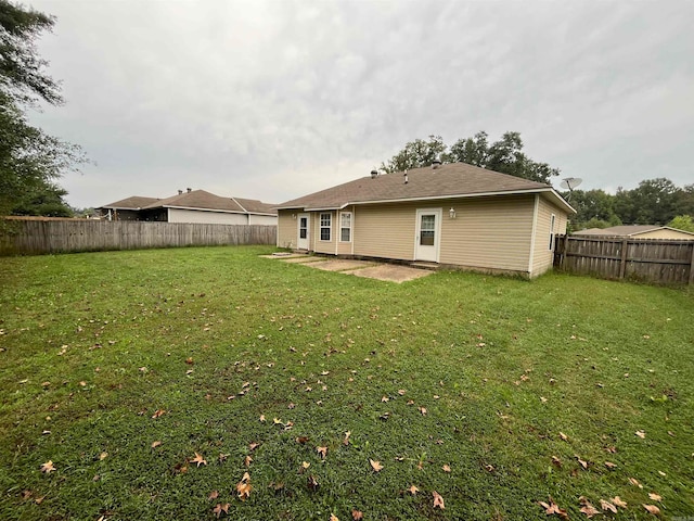
[[[66,192],[54,180],[85,162],[78,147],[33,127],[25,114],[26,107],[41,100],[53,105],[63,102],[35,45],[53,24],[49,15],[0,0],[0,215],[27,212],[30,194],[39,193],[67,208],[62,200]],[[55,202],[56,196],[62,203]]]

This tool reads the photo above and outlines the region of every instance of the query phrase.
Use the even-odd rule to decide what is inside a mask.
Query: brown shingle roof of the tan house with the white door
[[[278,205],[282,208],[330,209],[348,204],[475,196],[499,193],[548,192],[561,204],[573,208],[550,185],[529,181],[466,163],[451,163],[438,168],[415,168],[407,173],[362,177],[337,187],[321,190]]]

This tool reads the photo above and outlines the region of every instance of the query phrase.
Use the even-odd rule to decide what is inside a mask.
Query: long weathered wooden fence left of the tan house
[[[11,220],[0,236],[0,255],[138,250],[150,247],[269,244],[277,226],[108,221]]]

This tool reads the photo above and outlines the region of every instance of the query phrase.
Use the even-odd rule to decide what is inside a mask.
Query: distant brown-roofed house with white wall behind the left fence
[[[278,216],[272,206],[253,199],[221,198],[188,189],[167,199],[132,196],[97,209],[113,220],[274,226]]]

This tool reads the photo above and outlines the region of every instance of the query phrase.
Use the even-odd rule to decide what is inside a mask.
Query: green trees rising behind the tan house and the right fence
[[[489,142],[479,131],[448,147],[440,136],[415,139],[386,163],[386,173],[428,166],[433,161],[468,163],[490,170],[531,181],[552,183],[561,170],[530,158],[523,151],[519,132],[505,132],[500,140]],[[618,225],[661,225],[694,231],[694,185],[677,187],[666,178],[646,179],[632,190],[619,188],[611,194],[604,190],[561,191],[577,214],[570,218],[570,230],[607,228]]]

